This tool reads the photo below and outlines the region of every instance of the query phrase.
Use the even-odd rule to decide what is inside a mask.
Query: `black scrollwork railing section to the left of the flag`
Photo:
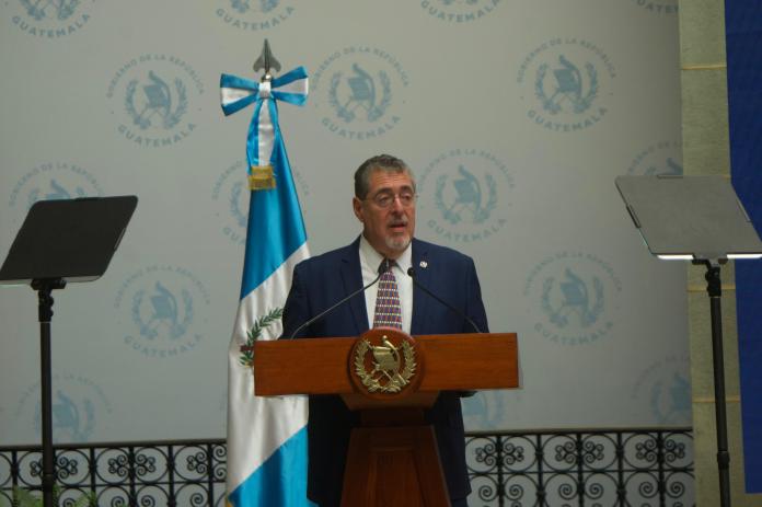
[[[94,492],[99,506],[224,507],[227,448],[219,440],[57,445],[60,505]],[[42,451],[0,448],[0,507],[13,488],[41,487]]]

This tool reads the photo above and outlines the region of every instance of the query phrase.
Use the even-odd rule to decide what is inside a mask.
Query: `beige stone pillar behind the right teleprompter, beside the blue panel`
[[[680,2],[683,163],[689,175],[730,176],[724,7],[723,0]],[[695,497],[697,506],[714,507],[719,505],[719,480],[712,330],[704,273],[703,267],[690,267],[688,278]],[[762,506],[762,495],[747,495],[743,487],[734,266],[724,266],[721,276],[731,503]]]

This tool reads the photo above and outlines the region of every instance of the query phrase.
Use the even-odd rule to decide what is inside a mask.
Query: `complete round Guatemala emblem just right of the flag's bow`
[[[326,57],[312,78],[321,126],[353,140],[374,139],[402,120],[407,72],[393,55],[349,46]]]

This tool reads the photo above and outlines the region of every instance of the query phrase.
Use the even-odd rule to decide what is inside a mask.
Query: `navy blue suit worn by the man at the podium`
[[[412,254],[416,280],[469,315],[483,332],[488,332],[482,291],[471,257],[415,239]],[[301,324],[360,287],[359,238],[348,246],[298,264],[284,310],[282,336],[291,336]],[[358,293],[300,331],[296,337],[358,336],[366,331],[365,296]],[[414,287],[413,336],[473,332],[462,316]],[[465,469],[463,416],[458,394],[441,393],[426,412],[426,419],[435,427],[450,498],[466,497],[471,486]],[[349,433],[357,425],[357,414],[347,410],[340,397],[310,397],[308,496],[321,507],[339,505]]]

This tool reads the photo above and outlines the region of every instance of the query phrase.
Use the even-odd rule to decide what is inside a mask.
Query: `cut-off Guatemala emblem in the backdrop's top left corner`
[[[78,33],[90,21],[95,0],[5,0],[11,22],[36,38],[60,39]]]

